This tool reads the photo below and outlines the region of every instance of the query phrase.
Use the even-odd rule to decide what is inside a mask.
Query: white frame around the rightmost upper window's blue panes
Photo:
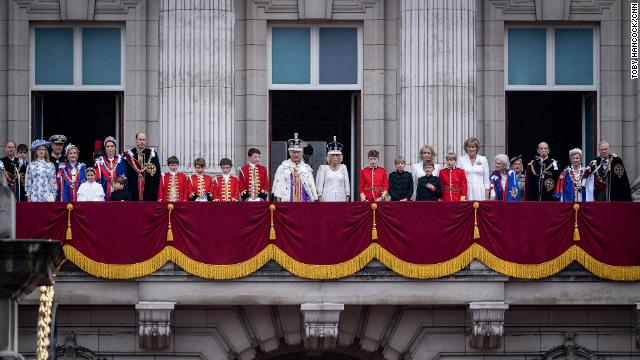
[[[545,29],[546,30],[546,84],[509,85],[509,29]],[[593,31],[593,84],[557,85],[555,68],[556,29],[591,29]],[[505,25],[504,31],[504,89],[505,91],[598,91],[600,87],[600,32],[597,25]]]

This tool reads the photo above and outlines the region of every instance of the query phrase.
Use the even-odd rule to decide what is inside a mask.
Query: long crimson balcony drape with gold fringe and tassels
[[[372,259],[436,278],[473,259],[538,279],[572,261],[611,280],[640,280],[638,203],[19,203],[17,235],[64,241],[89,274],[127,279],[167,261],[211,279],[275,260],[312,279],[351,275]]]

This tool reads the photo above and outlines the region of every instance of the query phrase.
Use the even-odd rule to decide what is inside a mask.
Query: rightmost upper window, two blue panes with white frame
[[[505,37],[506,90],[597,90],[595,28],[518,26]]]

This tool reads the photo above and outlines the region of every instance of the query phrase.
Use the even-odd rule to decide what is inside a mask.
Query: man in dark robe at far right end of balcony
[[[598,144],[600,156],[587,166],[587,201],[631,201],[631,187],[622,159],[609,153],[609,143]]]

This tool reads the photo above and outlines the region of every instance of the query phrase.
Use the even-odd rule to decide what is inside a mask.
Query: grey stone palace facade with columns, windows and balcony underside
[[[265,165],[294,132],[351,173],[463,152],[567,161],[601,139],[640,175],[630,0],[7,0],[0,3],[0,142],[66,134],[87,156],[146,132],[164,160]],[[319,149],[319,150],[318,150]],[[318,155],[319,154],[319,155]],[[590,154],[590,155],[589,155]],[[85,161],[87,161],[85,159]],[[354,181],[354,183],[356,183]],[[58,276],[60,357],[100,359],[640,358],[638,283],[582,268],[518,281],[478,263],[408,280],[377,263],[337,281],[270,264],[233,281],[171,265],[102,281]],[[33,356],[37,295],[20,310]]]

